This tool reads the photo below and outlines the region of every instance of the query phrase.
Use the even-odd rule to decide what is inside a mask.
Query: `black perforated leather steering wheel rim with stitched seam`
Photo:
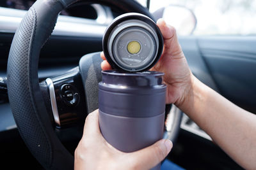
[[[54,133],[38,82],[39,54],[51,36],[58,14],[76,1],[38,0],[20,23],[10,48],[7,78],[8,97],[22,139],[45,169],[73,169],[74,157]],[[129,0],[88,1],[115,6],[124,12],[152,17],[146,8]]]

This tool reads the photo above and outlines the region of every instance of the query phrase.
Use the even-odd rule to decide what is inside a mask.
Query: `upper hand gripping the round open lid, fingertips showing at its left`
[[[167,85],[166,103],[174,103],[180,107],[192,88],[193,74],[179,45],[175,29],[166,25],[163,19],[159,19],[157,25],[163,34],[164,50],[151,70],[164,73],[164,83]],[[102,70],[111,69],[104,53],[101,53],[100,57],[104,60],[101,63]]]

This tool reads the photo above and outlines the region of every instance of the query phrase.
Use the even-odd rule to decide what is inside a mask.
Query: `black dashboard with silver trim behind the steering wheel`
[[[0,2],[0,76],[6,76],[8,52],[13,35],[22,17],[35,1],[6,0]],[[107,25],[120,15],[100,4],[75,4],[61,11],[51,38],[45,43],[40,53],[38,77],[40,80],[65,73],[76,67],[79,59],[86,53],[102,50],[102,36]],[[16,129],[15,121],[8,104],[8,99],[1,99],[0,132]],[[6,102],[7,101],[7,102]],[[186,115],[180,125],[184,131],[211,140]]]

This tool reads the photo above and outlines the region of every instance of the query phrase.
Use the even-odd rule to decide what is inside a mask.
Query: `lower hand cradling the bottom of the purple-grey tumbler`
[[[171,149],[172,142],[161,139],[137,152],[120,152],[101,135],[99,111],[95,110],[86,118],[83,138],[75,151],[74,169],[150,169],[159,164]]]

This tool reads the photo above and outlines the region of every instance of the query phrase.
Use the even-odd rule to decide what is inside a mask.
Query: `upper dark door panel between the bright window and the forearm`
[[[256,36],[191,36],[180,38],[180,44],[198,79],[256,112]]]

